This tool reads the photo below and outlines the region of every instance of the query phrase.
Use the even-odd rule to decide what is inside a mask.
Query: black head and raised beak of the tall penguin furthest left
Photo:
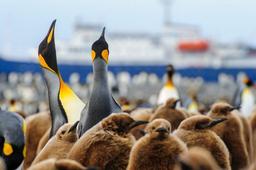
[[[54,27],[56,19],[52,22],[50,29],[38,47],[39,62],[42,67],[58,74],[56,49],[54,42]]]

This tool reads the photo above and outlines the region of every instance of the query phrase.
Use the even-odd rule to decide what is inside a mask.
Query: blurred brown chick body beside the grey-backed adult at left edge
[[[50,111],[36,113],[29,117],[26,124],[26,157],[24,159],[23,169],[27,169],[35,159],[39,140],[52,124]]]

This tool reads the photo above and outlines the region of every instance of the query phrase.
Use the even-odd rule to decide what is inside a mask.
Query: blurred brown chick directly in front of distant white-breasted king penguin
[[[187,118],[182,112],[175,109],[179,99],[170,98],[166,101],[165,107],[161,107],[157,112],[155,112],[149,119],[152,122],[154,119],[162,118],[166,119],[171,123],[172,131],[178,128],[180,122]],[[149,124],[145,127],[145,131],[149,130]]]

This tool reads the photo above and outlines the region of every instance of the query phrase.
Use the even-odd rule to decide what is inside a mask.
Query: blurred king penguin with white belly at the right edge
[[[255,104],[255,97],[251,88],[256,89],[256,86],[248,77],[243,79],[243,84],[245,87],[242,86],[240,90],[237,90],[234,95],[232,105],[241,106],[240,111],[242,115],[248,117],[253,112]]]

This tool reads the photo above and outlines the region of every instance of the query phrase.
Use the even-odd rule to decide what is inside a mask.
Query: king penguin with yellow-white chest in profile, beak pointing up
[[[65,123],[74,124],[80,119],[85,104],[64,83],[57,66],[54,42],[54,20],[50,29],[38,48],[39,62],[48,89],[49,106],[52,118],[50,138]]]

